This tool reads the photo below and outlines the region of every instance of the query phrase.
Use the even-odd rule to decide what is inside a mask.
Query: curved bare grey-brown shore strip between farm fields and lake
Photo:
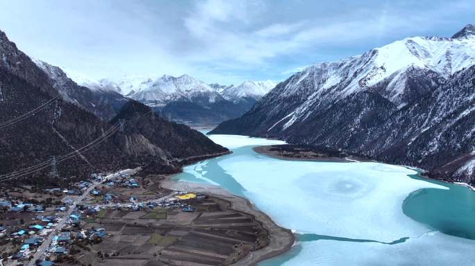
[[[233,263],[233,265],[257,265],[263,260],[267,260],[268,258],[272,258],[289,251],[292,245],[294,245],[294,233],[292,233],[292,231],[289,229],[279,227],[271,218],[269,218],[269,215],[254,209],[253,204],[249,201],[249,199],[232,195],[231,193],[228,193],[227,190],[219,186],[174,181],[171,179],[172,177],[174,177],[174,175],[167,175],[167,177],[161,181],[161,186],[169,190],[186,190],[197,193],[206,193],[207,195],[224,199],[228,202],[231,202],[231,209],[252,215],[256,221],[263,224],[263,227],[269,234],[269,245],[263,249],[251,251],[244,258],[238,260],[236,263]]]

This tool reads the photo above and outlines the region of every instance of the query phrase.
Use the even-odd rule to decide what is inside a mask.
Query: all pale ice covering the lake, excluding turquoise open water
[[[208,162],[198,163],[185,168],[185,173],[201,180],[218,175],[235,179],[245,189],[244,195],[281,226],[300,233],[379,242],[409,238],[396,245],[301,242],[297,256],[277,265],[450,265],[453,261],[471,265],[468,254],[475,248],[473,240],[433,232],[403,214],[403,201],[413,191],[447,189],[408,177],[415,170],[372,162],[285,161],[240,148],[276,141],[246,136],[211,138],[235,153],[211,159],[217,162],[211,163],[213,168],[206,167]],[[221,186],[226,188],[226,184]]]

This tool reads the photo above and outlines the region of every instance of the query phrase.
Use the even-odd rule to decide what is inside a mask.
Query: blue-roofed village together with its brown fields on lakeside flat
[[[140,256],[135,254],[138,258],[129,259],[129,263],[147,261],[145,253],[149,259],[172,265],[174,261],[196,260],[194,256],[201,257],[203,265],[221,265],[237,260],[251,249],[267,245],[267,232],[260,224],[242,213],[231,214],[226,210],[228,203],[208,199],[203,193],[164,190],[159,182],[132,174],[133,170],[92,174],[89,179],[78,181],[69,188],[47,188],[41,197],[30,199],[18,193],[3,193],[0,197],[0,265],[103,265],[104,261],[112,261],[119,254],[125,255],[124,249],[130,247],[115,247],[120,247],[117,242],[124,244],[123,238],[131,238],[128,231],[132,228],[134,235],[142,235],[138,242],[132,241],[133,246],[138,245],[141,250],[144,245],[153,245],[153,248],[140,251]],[[190,225],[199,227],[192,231],[203,234],[203,225],[207,224],[201,220],[210,222],[201,217],[206,216],[205,212],[223,214],[224,219],[228,219],[210,216],[218,221],[211,222],[211,226],[232,226],[237,230],[231,238],[216,238],[217,245],[221,241],[225,248],[208,247],[210,251],[218,252],[210,258],[202,258],[203,251],[194,254],[181,250],[177,253],[172,249],[174,252],[167,253],[167,248],[181,239],[186,242],[181,249],[197,249],[197,242],[203,240],[191,233]],[[181,233],[175,236],[176,231]],[[227,229],[213,234],[226,232]],[[206,235],[208,242],[215,241],[209,239],[215,238],[213,234]],[[130,256],[131,252],[126,254]],[[94,255],[94,259],[88,255]]]

